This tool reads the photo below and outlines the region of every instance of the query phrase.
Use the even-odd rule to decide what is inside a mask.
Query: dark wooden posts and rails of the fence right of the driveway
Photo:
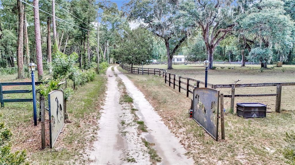
[[[205,87],[205,82],[201,80],[196,80],[194,78],[184,77],[181,75],[176,75],[174,73],[169,73],[166,69],[158,69],[158,68],[138,68],[138,67],[131,67],[128,65],[120,64],[120,67],[127,72],[135,73],[135,74],[148,74],[148,75],[159,75],[164,78],[164,82],[168,84],[173,89],[178,89],[178,92],[184,90],[186,93],[186,97],[189,97],[189,94],[193,94],[194,87]],[[243,87],[271,87],[276,86],[275,93],[260,93],[260,94],[235,94],[236,88],[243,88]],[[275,110],[276,112],[280,112],[281,110],[281,94],[282,94],[282,86],[294,86],[295,89],[295,82],[292,83],[250,83],[250,84],[211,84],[207,83],[207,87],[221,90],[228,88],[227,90],[230,91],[229,95],[224,94],[224,97],[230,97],[230,109],[234,109],[235,107],[235,97],[269,97],[275,96]],[[255,90],[255,88],[253,88]],[[223,90],[224,91],[224,90]],[[290,105],[295,104],[294,99],[290,99]]]

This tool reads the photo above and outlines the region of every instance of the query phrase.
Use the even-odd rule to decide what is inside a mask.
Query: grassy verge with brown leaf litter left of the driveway
[[[99,111],[104,100],[105,71],[106,69],[101,70],[92,82],[75,90],[67,103],[69,120],[53,149],[49,148],[48,112],[45,114],[47,148],[41,150],[41,124],[38,122],[34,127],[32,102],[5,103],[5,108],[0,108],[0,121],[4,121],[12,130],[12,149],[25,149],[30,164],[87,164],[86,150],[95,139]],[[19,81],[15,78],[16,75],[1,76],[1,82]]]

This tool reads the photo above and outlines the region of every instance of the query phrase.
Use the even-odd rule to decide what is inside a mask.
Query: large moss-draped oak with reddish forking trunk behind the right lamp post
[[[242,2],[232,0],[202,0],[194,3],[195,19],[202,31],[203,40],[206,45],[209,68],[213,66],[213,53],[216,46],[224,40],[234,29],[235,18],[240,10],[237,6]]]

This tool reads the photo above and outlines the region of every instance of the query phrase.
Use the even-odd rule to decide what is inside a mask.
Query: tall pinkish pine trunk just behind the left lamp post
[[[53,0],[54,1],[54,0]],[[33,0],[34,22],[35,22],[35,40],[36,40],[36,57],[38,78],[43,78],[42,50],[41,50],[41,34],[40,34],[40,19],[39,19],[39,0]]]

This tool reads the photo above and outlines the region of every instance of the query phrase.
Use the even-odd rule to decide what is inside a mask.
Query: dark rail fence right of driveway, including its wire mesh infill
[[[186,93],[186,97],[189,97],[189,94],[193,94],[194,87],[205,87],[204,81],[169,73],[166,69],[142,69],[123,64],[120,64],[120,67],[129,73],[162,76],[166,84],[173,87],[173,89],[178,89],[178,92],[183,90]],[[269,110],[272,109],[277,112],[280,112],[281,108],[295,110],[295,82],[249,83],[236,85],[207,83],[207,86],[209,88],[220,90],[220,93],[224,93],[224,99],[230,99],[225,101],[225,106],[233,110],[235,109],[235,103],[237,101],[262,102],[268,105]],[[263,97],[263,99],[261,99],[261,97]]]

